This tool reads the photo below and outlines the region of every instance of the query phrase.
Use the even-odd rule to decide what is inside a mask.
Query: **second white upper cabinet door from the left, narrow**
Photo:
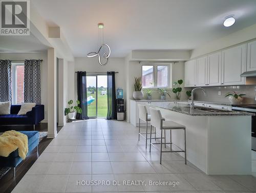
[[[196,60],[196,85],[207,85],[207,57],[198,58]]]

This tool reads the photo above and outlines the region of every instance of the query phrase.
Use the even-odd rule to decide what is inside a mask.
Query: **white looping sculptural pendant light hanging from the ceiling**
[[[109,57],[110,57],[110,53],[111,53],[110,46],[108,44],[104,43],[103,28],[104,28],[104,24],[103,23],[98,23],[98,30],[99,30],[99,33],[98,33],[98,44],[99,44],[99,41],[100,41],[101,36],[102,36],[102,42],[101,42],[101,45],[99,46],[98,52],[90,52],[90,53],[87,54],[87,57],[89,57],[89,58],[98,56],[99,64],[102,65],[102,66],[104,66],[104,65],[106,65],[106,63],[108,63]],[[101,58],[100,58],[100,51],[101,51],[101,49],[104,49],[104,47],[108,51],[103,53],[102,56],[103,56],[103,58],[106,61],[104,63],[102,63]]]

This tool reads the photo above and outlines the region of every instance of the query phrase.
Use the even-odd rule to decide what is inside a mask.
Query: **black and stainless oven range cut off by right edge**
[[[232,110],[256,114],[256,105],[232,105]],[[251,149],[256,151],[256,116],[251,116]]]

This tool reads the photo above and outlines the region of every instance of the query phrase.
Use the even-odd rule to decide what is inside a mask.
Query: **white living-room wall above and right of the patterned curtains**
[[[25,60],[25,59],[41,59],[41,104],[45,105],[45,119],[42,122],[47,122],[47,52],[37,53],[0,53],[0,59],[8,60]]]

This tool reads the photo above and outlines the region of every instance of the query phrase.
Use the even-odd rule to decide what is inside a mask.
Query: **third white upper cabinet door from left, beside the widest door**
[[[207,85],[221,85],[221,52],[210,54],[207,57]]]

